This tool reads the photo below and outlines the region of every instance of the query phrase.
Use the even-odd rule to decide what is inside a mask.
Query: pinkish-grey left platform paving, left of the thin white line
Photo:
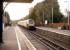
[[[7,27],[3,31],[3,43],[0,50],[18,50],[16,35],[13,28]]]

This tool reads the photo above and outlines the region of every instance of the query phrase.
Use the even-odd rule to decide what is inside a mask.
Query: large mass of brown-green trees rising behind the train
[[[62,22],[63,15],[59,11],[57,0],[45,0],[38,3],[29,14],[29,17],[34,19],[37,24],[43,23],[44,20],[52,22],[52,7],[53,7],[53,22]],[[44,18],[43,18],[44,16]]]

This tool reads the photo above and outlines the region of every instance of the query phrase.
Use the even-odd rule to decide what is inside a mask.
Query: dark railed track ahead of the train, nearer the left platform
[[[44,46],[48,47],[50,50],[66,50],[46,39],[43,38],[42,35],[38,34],[36,31],[28,30],[29,34],[32,35],[37,41],[42,43]]]

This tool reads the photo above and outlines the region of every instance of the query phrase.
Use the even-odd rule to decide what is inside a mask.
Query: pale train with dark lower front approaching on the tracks
[[[35,22],[32,19],[22,20],[17,23],[19,26],[23,26],[30,30],[35,30]]]

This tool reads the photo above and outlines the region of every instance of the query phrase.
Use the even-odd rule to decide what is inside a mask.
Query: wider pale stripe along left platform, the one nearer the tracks
[[[28,38],[23,34],[23,32],[21,31],[21,29],[17,26],[17,29],[19,30],[19,33],[21,33],[21,36],[23,37],[27,47],[29,48],[29,50],[37,50],[33,44],[28,40]]]

